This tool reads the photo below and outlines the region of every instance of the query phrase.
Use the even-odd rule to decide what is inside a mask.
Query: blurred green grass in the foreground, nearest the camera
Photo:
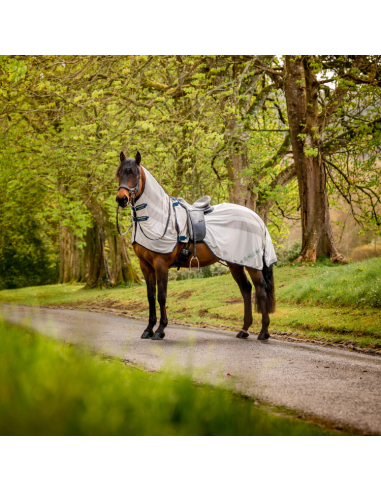
[[[332,435],[0,322],[1,435]]]

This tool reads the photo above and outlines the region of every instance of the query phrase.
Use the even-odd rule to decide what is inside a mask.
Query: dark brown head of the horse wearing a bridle
[[[135,159],[126,159],[123,152],[120,154],[120,164],[116,171],[116,179],[119,181],[116,202],[122,208],[126,208],[131,200],[141,193],[142,187],[142,157],[138,152]]]

